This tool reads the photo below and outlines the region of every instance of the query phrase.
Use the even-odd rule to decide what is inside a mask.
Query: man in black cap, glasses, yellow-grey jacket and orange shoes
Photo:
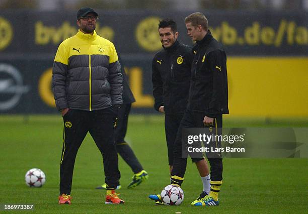
[[[59,204],[71,203],[75,158],[88,132],[103,157],[105,203],[124,203],[115,192],[121,175],[114,140],[123,78],[114,44],[95,31],[97,19],[93,9],[81,8],[78,32],[59,45],[53,63],[52,91],[64,125]]]

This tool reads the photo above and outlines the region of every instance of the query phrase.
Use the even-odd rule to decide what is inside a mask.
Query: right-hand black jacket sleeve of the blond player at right
[[[222,101],[224,99],[224,88],[226,86],[226,56],[221,50],[215,50],[208,54],[210,62],[210,71],[213,73],[213,89],[212,96],[209,102],[209,108],[207,115],[210,118],[214,118],[215,115],[221,114],[220,109]]]

